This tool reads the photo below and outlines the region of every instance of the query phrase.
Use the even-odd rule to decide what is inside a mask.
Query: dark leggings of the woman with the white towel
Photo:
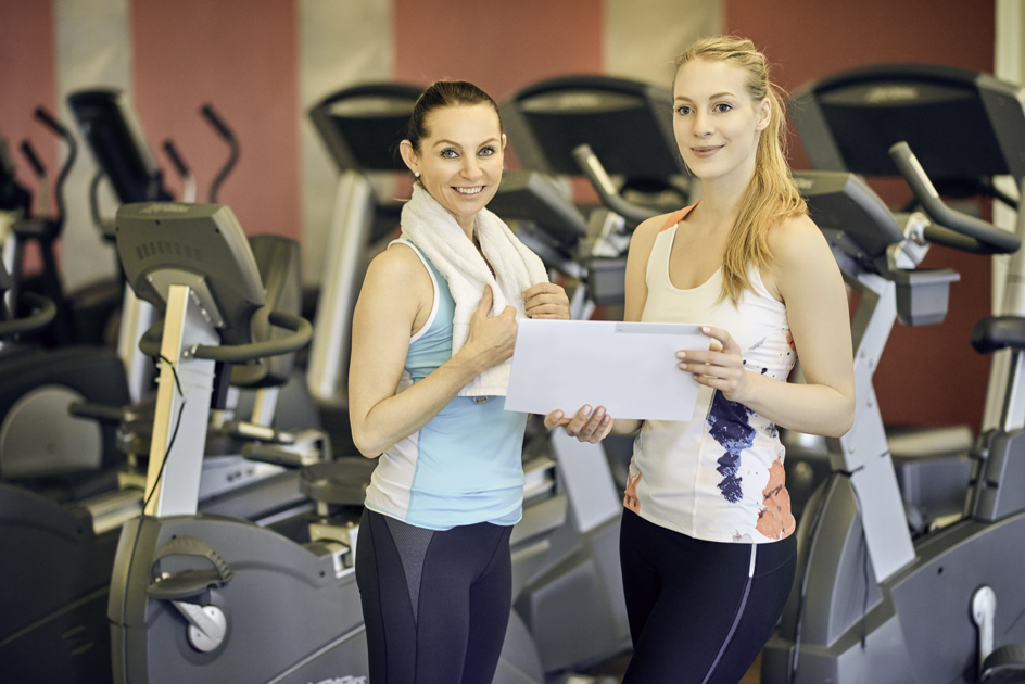
[[[511,527],[443,532],[365,509],[356,582],[370,684],[490,684],[512,601]]]

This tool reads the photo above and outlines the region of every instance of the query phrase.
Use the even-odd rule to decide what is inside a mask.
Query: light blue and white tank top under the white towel
[[[452,358],[455,301],[442,275],[412,242],[434,283],[427,324],[409,342],[398,392]],[[505,410],[504,396],[457,396],[419,431],[380,456],[367,487],[371,510],[430,530],[522,516],[521,460],[527,414]]]

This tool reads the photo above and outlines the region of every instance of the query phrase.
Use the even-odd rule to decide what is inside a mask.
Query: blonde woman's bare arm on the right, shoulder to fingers
[[[853,422],[855,377],[843,277],[825,238],[808,217],[773,228],[776,258],[765,284],[784,304],[807,384],[780,382],[744,370],[741,349],[726,331],[709,328],[717,350],[680,353],[680,367],[733,402],[772,422],[812,434],[840,436]],[[706,365],[708,364],[708,365]]]

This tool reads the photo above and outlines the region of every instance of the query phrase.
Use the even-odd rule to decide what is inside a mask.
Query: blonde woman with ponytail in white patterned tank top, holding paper
[[[700,384],[694,418],[615,420],[585,406],[567,431],[590,442],[638,431],[620,532],[634,643],[623,682],[735,683],[796,568],[777,427],[850,428],[850,324],[839,269],[790,181],[782,99],[754,43],[708,38],[678,59],[673,130],[703,199],[634,232],[625,320],[703,326],[709,351],[676,354]],[[797,358],[805,383],[786,381]]]

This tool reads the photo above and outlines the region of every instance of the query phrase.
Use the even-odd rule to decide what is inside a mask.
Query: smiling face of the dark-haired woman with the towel
[[[495,197],[502,180],[505,135],[489,104],[445,106],[427,117],[429,135],[419,149],[408,140],[400,148],[409,170],[432,198],[448,210],[467,236],[473,219]]]

